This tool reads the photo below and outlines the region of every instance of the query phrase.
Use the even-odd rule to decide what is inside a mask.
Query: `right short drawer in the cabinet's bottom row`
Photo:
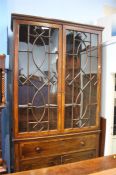
[[[61,158],[61,162],[65,163],[72,163],[80,160],[91,159],[97,157],[96,150],[89,150],[89,151],[82,151],[82,152],[75,152],[63,155]]]

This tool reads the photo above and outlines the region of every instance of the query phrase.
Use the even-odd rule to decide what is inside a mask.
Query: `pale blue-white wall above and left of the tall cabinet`
[[[116,7],[116,1],[0,0],[0,53],[7,54],[7,26],[8,29],[10,29],[11,13],[21,13],[94,24],[98,18],[103,16],[104,5]],[[10,30],[8,35],[10,37]]]

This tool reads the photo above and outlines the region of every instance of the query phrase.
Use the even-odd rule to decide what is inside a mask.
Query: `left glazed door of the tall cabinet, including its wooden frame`
[[[14,21],[15,136],[60,131],[61,26]]]

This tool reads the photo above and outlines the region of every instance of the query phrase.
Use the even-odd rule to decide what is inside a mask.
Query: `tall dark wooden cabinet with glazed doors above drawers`
[[[101,82],[100,82],[101,81],[101,46],[100,44],[101,44],[101,32],[103,28],[84,25],[84,24],[82,25],[82,24],[77,24],[77,23],[72,23],[67,21],[61,21],[61,20],[44,19],[44,18],[37,18],[37,17],[26,16],[26,15],[17,15],[17,14],[12,15],[12,28],[14,33],[14,61],[13,61],[14,63],[14,66],[13,66],[14,67],[14,70],[13,70],[13,73],[14,73],[13,75],[13,79],[14,79],[13,80],[14,82],[13,83],[13,119],[14,119],[13,135],[14,135],[14,138],[13,138],[13,141],[14,141],[15,171],[22,171],[30,168],[34,169],[34,168],[41,168],[46,166],[53,166],[53,165],[64,164],[64,163],[97,157],[99,155],[99,133],[100,133],[100,118],[99,118],[100,94],[101,94]],[[26,28],[26,30],[25,30],[25,33],[23,33],[23,36],[21,37],[20,35],[22,35],[24,28]],[[36,37],[38,33],[40,34],[38,35],[38,37],[43,36],[42,34],[43,30],[45,33],[44,38],[46,38],[45,41],[43,42],[42,39],[41,41],[37,41],[38,38]],[[54,40],[53,40],[54,30],[56,30],[55,31],[56,33],[58,31],[58,40],[57,39],[55,40],[56,45],[54,50],[55,49],[57,50],[55,53],[50,52],[51,48],[48,45],[50,43],[50,40],[48,38],[52,38],[52,44],[54,43]],[[66,115],[65,107],[66,105],[72,105],[71,110],[75,110],[76,105],[81,106],[82,102],[80,100],[79,102],[75,102],[76,105],[73,104],[74,91],[72,92],[71,104],[70,102],[68,103],[66,102],[66,93],[67,92],[69,93],[68,91],[69,87],[66,89],[65,82],[66,82],[66,74],[68,71],[70,72],[73,70],[73,73],[72,73],[73,78],[75,76],[74,72],[76,71],[81,72],[82,67],[80,66],[80,63],[76,61],[76,59],[81,59],[81,55],[80,55],[81,53],[78,53],[79,54],[78,58],[75,58],[75,55],[74,55],[75,49],[73,48],[73,56],[72,55],[67,56],[68,54],[67,53],[67,47],[68,47],[67,31],[69,33],[70,31],[73,31],[73,33],[75,31],[76,35],[78,35],[78,33],[81,33],[81,35],[83,35],[84,33],[86,35],[89,34],[90,36],[89,45],[87,45],[84,49],[82,49],[81,53],[87,52],[90,54],[89,55],[90,59],[88,59],[87,61],[87,62],[90,62],[90,66],[88,66],[85,76],[83,75],[83,84],[85,83],[85,85],[88,86],[88,84],[90,83],[91,85],[87,87],[86,91],[84,92],[84,109],[82,109],[81,112],[80,112],[81,107],[80,108],[78,107],[79,109],[76,109],[77,113],[79,112],[83,113],[83,115],[80,114],[80,116],[78,116],[77,118],[78,124],[76,124],[77,126],[75,125],[76,127],[73,127],[74,120],[76,119],[76,118],[73,118],[73,112],[69,111],[70,113],[67,113],[68,115]],[[73,35],[73,39],[74,39],[74,35]],[[35,37],[36,39],[31,37]],[[95,37],[97,39],[95,43],[92,45],[92,42],[95,39]],[[70,36],[69,36],[69,39],[70,39]],[[75,40],[76,39],[78,40],[78,38],[75,38]],[[24,44],[22,45],[22,48],[21,48],[21,42],[23,42]],[[74,42],[75,41],[73,41],[73,47],[76,47],[74,46]],[[41,66],[38,66],[37,64],[35,64],[37,61],[33,55],[34,54],[33,49],[35,47],[34,45],[35,43],[36,43],[36,47],[42,47],[42,43],[44,43],[44,46],[48,48],[47,52],[45,52],[45,55],[48,54],[47,55],[48,61],[46,63],[46,66],[43,66],[44,68],[41,68]],[[79,42],[77,42],[77,44],[78,43]],[[30,46],[32,47],[32,50],[29,50]],[[28,49],[26,50],[26,48]],[[20,50],[20,49],[23,49],[23,50]],[[96,49],[97,56],[91,55],[92,49]],[[26,54],[24,54],[21,57],[20,55],[22,53],[26,53],[27,57],[26,57]],[[30,56],[31,53],[32,53],[32,57]],[[57,61],[55,62],[55,67],[52,67],[53,63],[51,64],[50,62],[50,60],[52,60],[53,58],[51,56],[52,54],[57,54],[57,58],[55,57],[55,59],[57,59]],[[93,72],[91,71],[92,68],[90,68],[89,70],[89,67],[92,67],[92,61],[91,61],[92,56],[94,57],[94,59],[97,59],[96,69]],[[25,66],[21,65],[22,67],[20,67],[20,60],[22,58],[24,62],[27,59],[27,63],[25,65],[23,62]],[[33,63],[30,65],[32,58],[33,58]],[[84,59],[82,61],[84,61]],[[42,76],[40,77],[40,75],[36,75],[36,74],[33,75],[33,73],[30,71],[31,67],[33,66],[39,69],[41,74],[44,75],[44,78],[47,77],[46,79],[48,82],[46,83],[46,81],[43,81],[44,84],[41,84],[40,86],[40,87],[44,87],[42,94],[44,94],[44,92],[46,91],[46,93],[44,94],[45,95],[44,101],[47,99],[46,100],[47,102],[45,101],[46,102],[45,104],[41,104],[41,101],[42,101],[42,97],[40,98],[41,94],[35,100],[35,97],[39,92],[39,88],[37,88],[37,84],[34,84],[34,83],[36,80],[39,80],[39,78],[42,78]],[[73,66],[73,68],[71,66]],[[53,74],[55,74],[55,71],[57,72],[55,74],[56,77],[54,77],[57,79],[56,80],[57,90],[55,91],[55,93],[53,92],[53,94],[51,93],[52,89],[50,89],[51,84],[54,84],[55,82],[53,81],[54,79],[50,80],[50,76],[52,75],[50,70],[52,68],[54,69],[52,72]],[[21,71],[23,73],[21,73]],[[92,72],[92,73],[88,73],[88,72]],[[92,77],[95,78],[94,85],[91,83]],[[20,80],[19,82],[18,82],[18,79]],[[69,80],[71,81],[71,79]],[[24,83],[24,81],[26,83]],[[73,90],[78,89],[77,90],[78,93],[81,91],[80,90],[81,85],[80,84],[79,84],[80,86],[78,85],[80,81],[81,81],[81,78],[79,78],[79,80],[76,81],[77,85],[73,84]],[[42,80],[38,82],[42,83]],[[70,86],[70,82],[68,83],[69,83],[68,86]],[[35,85],[34,88],[36,88],[36,93],[34,95],[35,104],[33,103],[34,100],[31,100],[31,102],[29,101],[32,98],[31,96],[33,96],[33,93],[35,90],[33,87],[31,87],[33,86],[33,84]],[[70,89],[71,87],[72,86],[70,86]],[[19,88],[22,89],[20,94],[19,94],[19,90],[20,90]],[[25,90],[26,88],[28,90]],[[84,91],[84,88],[82,89],[82,91]],[[93,91],[91,91],[91,89],[93,89]],[[28,92],[28,95],[27,95],[28,98],[25,96],[27,92]],[[50,94],[50,98],[49,98],[49,94]],[[88,94],[90,94],[89,97],[87,96]],[[21,98],[23,100],[20,98],[20,95],[22,95]],[[39,98],[40,98],[40,101],[39,101]],[[20,99],[22,100],[21,102],[23,103],[20,102]],[[70,101],[70,98],[67,97],[67,99]],[[95,102],[91,102],[92,100]],[[52,101],[51,108],[49,107],[50,101]],[[39,105],[36,106],[36,103],[39,103]],[[87,108],[86,108],[86,105],[87,105]],[[44,120],[42,120],[42,122],[43,123],[48,122],[48,125],[44,125],[40,122],[41,124],[40,126],[43,126],[44,130],[42,130],[42,127],[40,127],[40,129],[37,128],[34,130],[34,127],[36,128],[36,126],[31,127],[31,125],[34,122],[36,123],[38,121],[39,116],[41,116],[41,113],[42,113],[41,111],[43,109],[43,106],[45,108],[45,111],[44,111],[45,118]],[[55,110],[57,110],[56,113],[55,113]],[[86,113],[86,110],[88,110],[87,113]],[[75,112],[75,115],[76,115],[76,112]],[[33,119],[33,116],[35,120]],[[70,126],[70,116],[72,116],[71,126]],[[83,116],[84,116],[83,121],[87,120],[84,124],[82,124],[82,118],[81,118]],[[91,118],[90,122],[88,122],[89,117]],[[49,124],[50,122],[52,122],[52,125]],[[57,123],[56,127],[54,127],[55,122]],[[67,126],[65,127],[65,123],[68,127]],[[50,129],[50,127],[53,129]]]

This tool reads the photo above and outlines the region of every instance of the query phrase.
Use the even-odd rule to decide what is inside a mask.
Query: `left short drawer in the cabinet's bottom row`
[[[38,169],[60,164],[61,164],[61,156],[43,157],[38,159],[21,161],[20,170],[24,171],[24,170]]]

